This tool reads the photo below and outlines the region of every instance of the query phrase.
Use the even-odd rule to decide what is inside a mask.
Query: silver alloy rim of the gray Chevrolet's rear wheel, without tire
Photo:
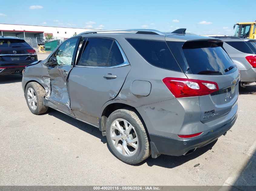
[[[138,136],[135,128],[125,119],[116,119],[110,128],[111,140],[123,156],[130,157],[138,150]]]

